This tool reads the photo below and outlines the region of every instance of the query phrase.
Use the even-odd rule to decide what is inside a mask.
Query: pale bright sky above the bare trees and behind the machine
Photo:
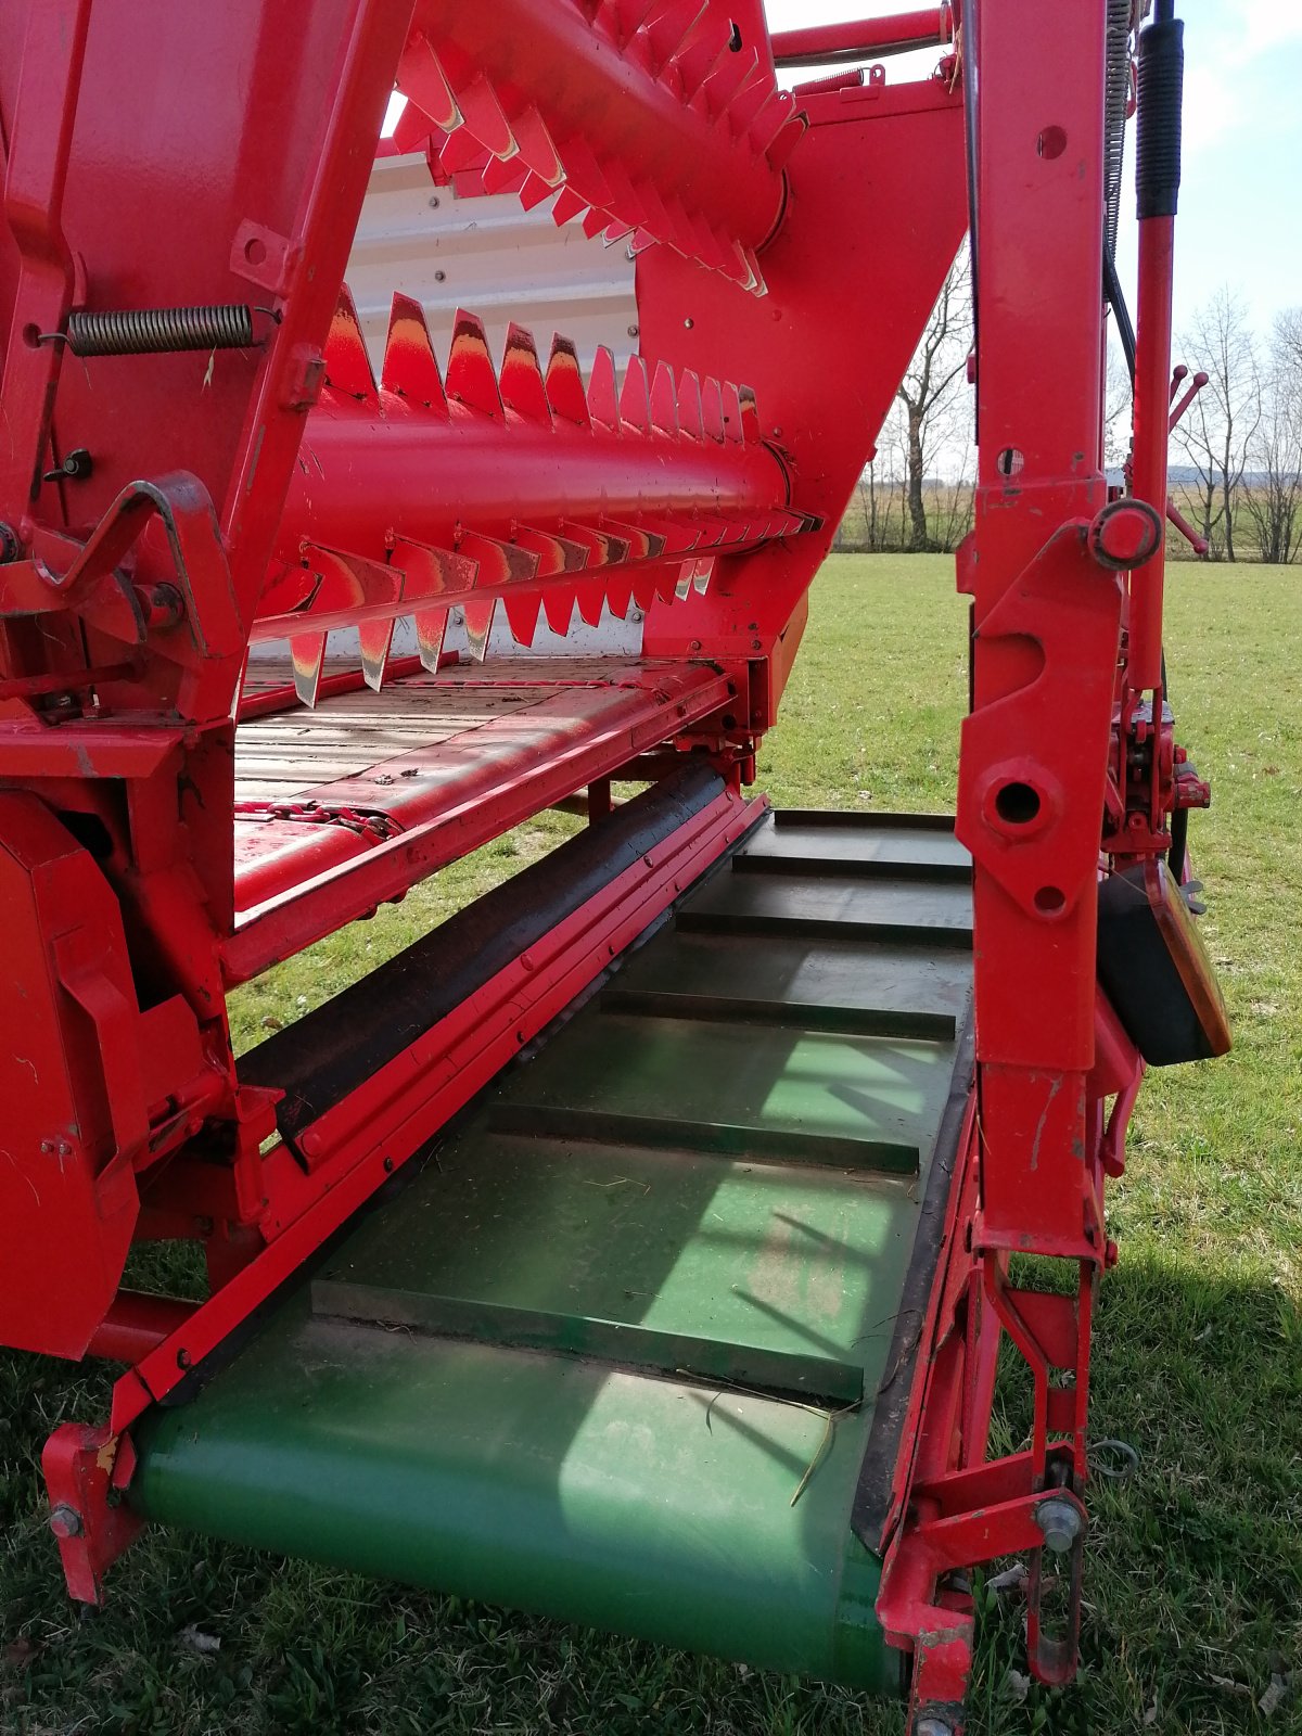
[[[906,9],[904,0],[766,0],[773,31]],[[1177,330],[1229,283],[1266,333],[1278,309],[1302,304],[1302,7],[1290,0],[1177,0],[1177,12],[1186,19]],[[887,62],[887,78],[925,76],[934,62],[936,54],[901,56]],[[1134,160],[1132,125],[1120,243],[1132,309]]]

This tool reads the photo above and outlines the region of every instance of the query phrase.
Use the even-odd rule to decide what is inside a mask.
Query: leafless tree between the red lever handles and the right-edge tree
[[[1262,417],[1257,345],[1243,302],[1227,288],[1217,290],[1180,333],[1180,349],[1189,366],[1208,377],[1175,429],[1194,472],[1186,505],[1213,552],[1233,561],[1234,510]]]

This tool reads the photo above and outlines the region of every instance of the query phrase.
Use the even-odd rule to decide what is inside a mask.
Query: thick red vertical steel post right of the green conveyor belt
[[[979,467],[958,832],[976,865],[979,1241],[1090,1259],[1085,1075],[1120,637],[1118,582],[1083,536],[1106,500],[1106,7],[986,3],[963,24],[979,92]]]

